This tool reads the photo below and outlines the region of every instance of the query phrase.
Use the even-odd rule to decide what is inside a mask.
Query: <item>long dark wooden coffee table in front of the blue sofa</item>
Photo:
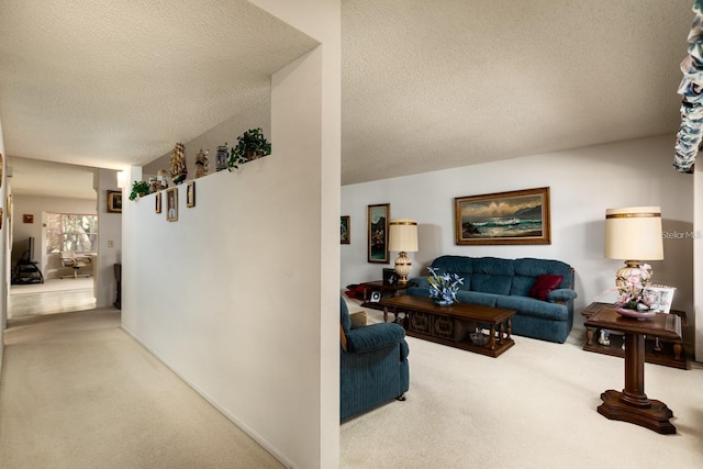
[[[498,357],[515,345],[510,337],[511,316],[514,310],[481,306],[469,303],[454,303],[439,306],[429,298],[395,297],[380,301],[383,321],[393,313],[395,322],[402,323],[408,335],[465,350]],[[404,317],[401,319],[400,314]],[[473,344],[470,334],[476,327],[488,327],[488,342]]]

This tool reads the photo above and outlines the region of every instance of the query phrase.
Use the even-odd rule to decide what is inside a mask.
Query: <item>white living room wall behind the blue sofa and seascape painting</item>
[[[614,286],[622,263],[603,258],[605,210],[661,205],[665,232],[692,232],[693,177],[673,170],[674,135],[592,146],[436,172],[345,186],[342,214],[349,215],[352,239],[342,245],[342,287],[381,278],[383,267],[367,263],[367,205],[391,203],[391,217],[419,222],[420,252],[411,254],[413,276],[443,254],[559,259],[576,269],[577,311]],[[454,198],[548,186],[551,244],[457,246]],[[651,261],[656,283],[677,287],[673,308],[693,321],[693,244],[665,239],[665,260]],[[391,263],[398,256],[391,253]],[[601,301],[610,301],[609,298]],[[583,317],[576,314],[576,324]],[[692,343],[693,327],[684,331]],[[690,349],[690,348],[689,348]]]

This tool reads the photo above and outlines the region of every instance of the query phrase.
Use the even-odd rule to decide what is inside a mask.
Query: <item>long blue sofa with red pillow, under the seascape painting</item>
[[[457,292],[462,303],[515,310],[513,334],[563,343],[573,324],[573,269],[568,264],[548,259],[502,259],[496,257],[440,256],[432,267],[464,278]],[[539,300],[529,294],[540,276],[561,276],[561,283]],[[548,278],[548,277],[544,277]],[[544,279],[543,278],[543,279]],[[540,279],[540,280],[543,280]],[[410,280],[416,287],[408,294],[429,297],[428,277]]]

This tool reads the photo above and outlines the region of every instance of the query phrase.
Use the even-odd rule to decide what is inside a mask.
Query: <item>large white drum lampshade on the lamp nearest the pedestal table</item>
[[[605,257],[661,260],[661,208],[626,206],[605,211]]]

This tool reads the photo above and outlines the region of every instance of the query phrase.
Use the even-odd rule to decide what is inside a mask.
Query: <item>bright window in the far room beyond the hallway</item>
[[[93,252],[98,241],[98,215],[46,214],[46,254],[72,250]]]

